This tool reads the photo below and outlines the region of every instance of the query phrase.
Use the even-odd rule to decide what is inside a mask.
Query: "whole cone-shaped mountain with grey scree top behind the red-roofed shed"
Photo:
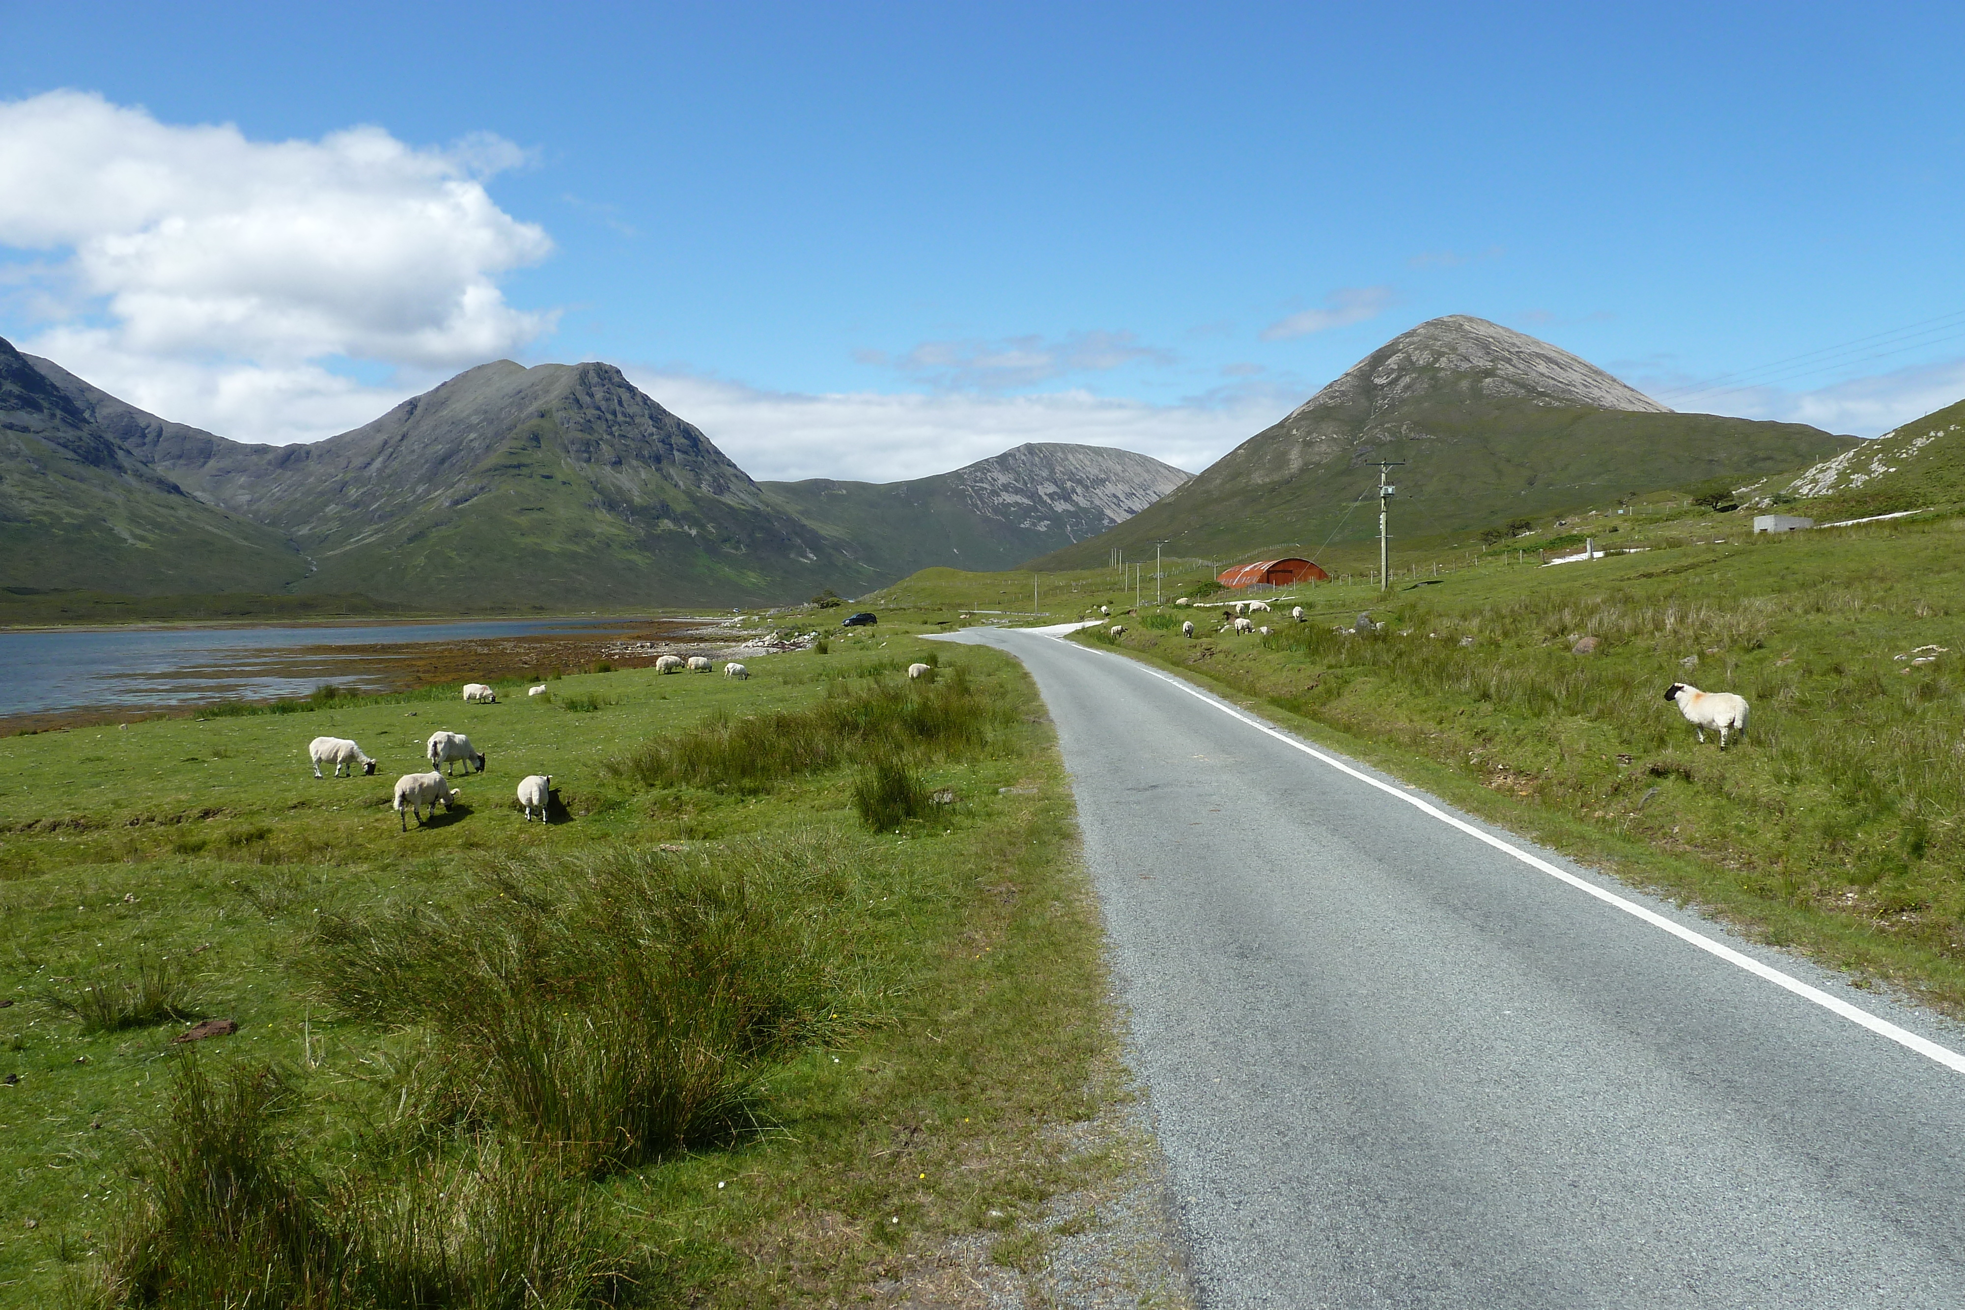
[[[1548,342],[1484,318],[1423,322],[1116,528],[1034,560],[1089,568],[1110,546],[1236,558],[1376,536],[1377,467],[1395,530],[1434,536],[1712,477],[1751,481],[1841,454],[1853,436],[1678,414]]]

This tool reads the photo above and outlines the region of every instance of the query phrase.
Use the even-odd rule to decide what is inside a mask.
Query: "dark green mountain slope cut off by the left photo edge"
[[[283,532],[185,495],[0,340],[0,585],[279,591],[305,573]]]

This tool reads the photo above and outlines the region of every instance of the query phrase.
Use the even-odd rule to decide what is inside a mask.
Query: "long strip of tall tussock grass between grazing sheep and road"
[[[643,744],[607,770],[643,786],[760,791],[780,778],[814,774],[874,750],[975,754],[1000,709],[957,666],[947,680],[827,687],[812,709],[705,723]]]

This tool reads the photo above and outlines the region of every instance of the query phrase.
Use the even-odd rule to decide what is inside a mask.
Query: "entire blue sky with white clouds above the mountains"
[[[0,336],[240,440],[511,355],[760,477],[1201,467],[1450,312],[1965,397],[1959,6],[267,8],[0,6]]]

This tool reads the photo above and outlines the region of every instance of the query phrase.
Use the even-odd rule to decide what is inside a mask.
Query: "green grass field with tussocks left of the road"
[[[1045,1200],[1120,1169],[1057,1131],[1120,1096],[1069,793],[1012,662],[884,627],[749,682],[0,740],[0,1300],[837,1304],[965,1235],[1041,1261]],[[904,695],[959,683],[981,727],[886,750],[898,827],[837,752],[743,786],[611,768],[927,654],[937,691]],[[440,727],[489,766],[405,833],[389,793]],[[316,735],[377,774],[314,780]],[[513,799],[533,772],[552,825]],[[238,1031],[171,1045],[204,1017]],[[234,1249],[279,1253],[259,1300]]]

